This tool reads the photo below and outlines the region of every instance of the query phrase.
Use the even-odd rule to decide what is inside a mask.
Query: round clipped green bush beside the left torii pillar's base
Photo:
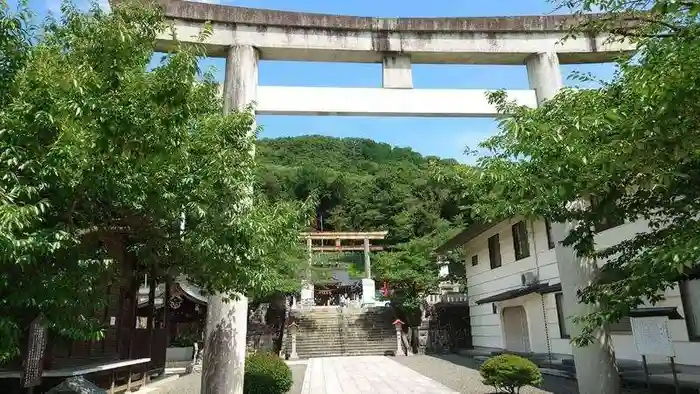
[[[246,357],[244,394],[284,394],[292,388],[292,370],[275,354],[253,353]]]

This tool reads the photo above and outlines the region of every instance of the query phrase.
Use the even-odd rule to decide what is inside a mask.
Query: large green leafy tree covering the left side
[[[295,274],[307,211],[244,203],[254,115],[222,115],[201,47],[147,71],[157,7],[64,3],[40,26],[27,10],[0,5],[0,362],[39,314],[99,337],[105,287],[144,272],[253,294]]]

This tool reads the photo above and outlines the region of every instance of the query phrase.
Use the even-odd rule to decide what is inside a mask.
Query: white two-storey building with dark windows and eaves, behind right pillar
[[[609,228],[596,234],[597,248],[616,244],[648,228],[646,222],[606,227]],[[565,324],[568,315],[563,310],[549,230],[545,221],[516,217],[474,225],[440,247],[442,251],[455,247],[466,251],[466,293],[475,348],[571,355]],[[675,307],[685,318],[669,321],[676,362],[700,365],[700,275],[680,282],[656,306]],[[628,318],[611,329],[618,360],[641,360],[631,332]],[[649,358],[649,362],[667,360]]]

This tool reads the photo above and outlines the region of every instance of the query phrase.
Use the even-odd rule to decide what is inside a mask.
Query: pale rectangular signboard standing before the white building
[[[632,336],[637,351],[643,356],[675,357],[668,331],[668,317],[631,317]]]

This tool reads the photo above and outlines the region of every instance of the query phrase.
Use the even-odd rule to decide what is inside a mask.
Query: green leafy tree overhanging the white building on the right
[[[605,305],[580,317],[584,330],[575,341],[583,345],[601,325],[645,300],[660,300],[700,261],[700,6],[566,3],[613,12],[610,23],[636,18],[638,24],[620,33],[634,40],[638,53],[621,58],[612,81],[600,88],[564,89],[536,109],[494,94],[492,101],[511,116],[482,144],[492,154],[480,159],[481,178],[470,193],[481,197],[474,206],[479,216],[575,222],[564,244],[607,260],[602,274],[608,280],[579,294],[582,302]],[[461,175],[471,187],[471,174]],[[583,209],[567,204],[581,199],[591,203]],[[596,224],[640,219],[648,221],[648,233],[597,250]]]

